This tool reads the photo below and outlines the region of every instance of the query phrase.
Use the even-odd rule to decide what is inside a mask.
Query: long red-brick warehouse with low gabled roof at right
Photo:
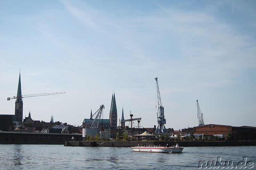
[[[217,124],[194,127],[194,134],[204,134],[205,136],[223,134],[226,138],[229,132],[232,134],[232,140],[256,140],[256,127],[235,127]]]

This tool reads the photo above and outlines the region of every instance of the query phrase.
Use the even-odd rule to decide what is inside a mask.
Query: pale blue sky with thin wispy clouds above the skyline
[[[0,1],[0,114],[82,125],[113,92],[121,119],[256,127],[256,1]],[[137,122],[134,122],[137,125]],[[127,124],[126,124],[127,125]]]

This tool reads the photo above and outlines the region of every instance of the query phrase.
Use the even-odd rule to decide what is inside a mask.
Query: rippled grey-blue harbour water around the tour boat
[[[0,169],[194,170],[199,161],[216,161],[217,157],[236,165],[247,157],[254,163],[251,169],[256,169],[255,152],[256,146],[185,147],[182,153],[147,153],[129,147],[0,144]]]

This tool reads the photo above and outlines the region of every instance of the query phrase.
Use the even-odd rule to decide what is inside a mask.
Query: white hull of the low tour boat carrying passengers
[[[169,153],[169,152],[182,152],[183,147],[175,148],[175,147],[131,147],[132,151],[135,152],[161,152],[161,153]]]

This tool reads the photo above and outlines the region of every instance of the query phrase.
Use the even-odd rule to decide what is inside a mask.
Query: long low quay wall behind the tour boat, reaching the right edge
[[[132,147],[138,145],[166,145],[178,143],[180,146],[246,146],[256,145],[256,141],[66,141],[65,146],[102,146],[102,147]]]

